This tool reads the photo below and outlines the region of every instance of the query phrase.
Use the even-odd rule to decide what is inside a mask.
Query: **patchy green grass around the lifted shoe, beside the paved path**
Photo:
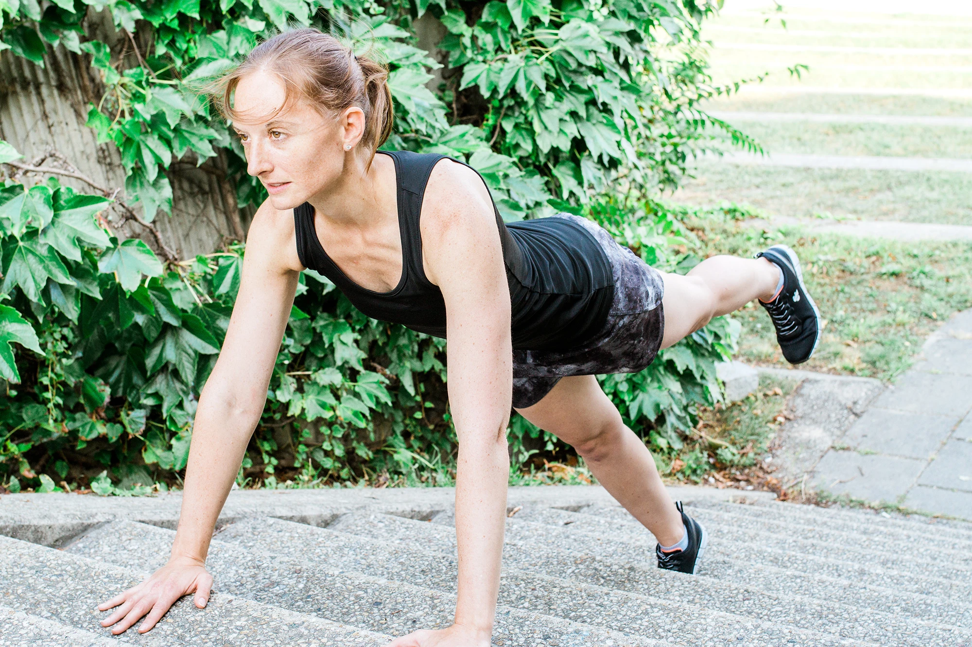
[[[696,219],[704,253],[751,256],[775,243],[792,247],[825,324],[814,358],[801,368],[890,380],[906,370],[924,339],[953,313],[972,307],[972,244],[901,243],[759,229]],[[750,303],[740,358],[788,366],[772,323]]]

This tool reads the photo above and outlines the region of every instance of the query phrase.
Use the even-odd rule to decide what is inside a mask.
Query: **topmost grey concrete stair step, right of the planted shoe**
[[[868,536],[929,541],[932,545],[944,543],[946,548],[960,546],[961,550],[972,551],[972,524],[955,520],[921,515],[906,516],[877,510],[820,508],[816,505],[781,501],[752,501],[741,504],[700,499],[693,501],[692,507],[724,512],[736,512],[744,508],[745,512],[740,514],[746,514],[753,519],[792,521],[802,526],[859,532]],[[577,510],[582,511],[583,509]]]

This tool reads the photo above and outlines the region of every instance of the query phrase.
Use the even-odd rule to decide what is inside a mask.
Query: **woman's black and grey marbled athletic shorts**
[[[604,227],[586,218],[561,213],[585,226],[610,259],[614,297],[608,319],[590,340],[565,350],[513,350],[513,406],[537,404],[560,379],[571,375],[637,373],[658,353],[665,330],[661,273],[627,247],[618,245]]]

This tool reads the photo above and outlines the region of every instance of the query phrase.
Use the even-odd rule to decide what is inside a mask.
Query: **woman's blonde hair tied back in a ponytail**
[[[250,51],[242,63],[210,85],[209,93],[227,119],[240,116],[231,103],[236,86],[257,70],[276,74],[287,87],[287,98],[274,115],[298,95],[325,115],[357,106],[364,112],[361,144],[371,157],[392,134],[394,107],[388,68],[366,55],[356,56],[330,34],[310,27],[294,29],[277,34]],[[272,118],[273,115],[268,119]]]

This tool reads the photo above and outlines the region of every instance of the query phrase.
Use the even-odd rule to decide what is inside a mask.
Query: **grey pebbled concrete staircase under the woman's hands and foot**
[[[96,606],[166,562],[174,506],[101,501],[116,507],[47,541],[57,549],[14,538],[50,539],[24,514],[49,495],[20,508],[3,497],[0,530],[13,536],[0,536],[0,646],[377,646],[447,627],[457,566],[447,497],[335,504],[315,492],[318,504],[304,491],[299,510],[267,497],[227,504],[206,607],[185,596],[153,630],[120,636],[100,627],[111,611]],[[494,644],[972,647],[972,525],[722,493],[675,494],[711,534],[692,576],[656,568],[653,537],[600,489],[511,492]],[[52,527],[78,528],[47,507]]]

